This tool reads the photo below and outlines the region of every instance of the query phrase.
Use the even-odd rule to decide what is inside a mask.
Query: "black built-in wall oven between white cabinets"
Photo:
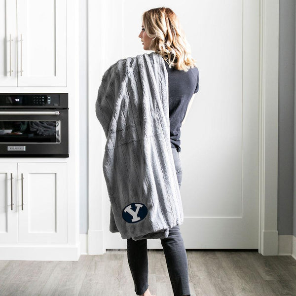
[[[69,157],[68,93],[0,94],[0,157]]]

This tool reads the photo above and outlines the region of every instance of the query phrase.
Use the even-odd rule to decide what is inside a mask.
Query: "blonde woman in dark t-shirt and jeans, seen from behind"
[[[198,91],[199,73],[190,56],[189,44],[176,14],[165,7],[154,8],[143,14],[139,35],[145,50],[153,50],[165,60],[169,80],[169,115],[171,147],[176,174],[181,188],[180,127],[185,119],[193,93]],[[192,101],[191,101],[192,102]],[[185,114],[186,113],[186,114]],[[174,296],[190,296],[188,264],[180,227],[170,228],[169,236],[161,239]],[[147,239],[127,239],[127,256],[135,284],[135,292],[151,296],[148,289]]]

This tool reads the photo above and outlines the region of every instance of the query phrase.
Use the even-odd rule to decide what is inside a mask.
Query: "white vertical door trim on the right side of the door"
[[[260,0],[259,253],[278,255],[279,0]]]

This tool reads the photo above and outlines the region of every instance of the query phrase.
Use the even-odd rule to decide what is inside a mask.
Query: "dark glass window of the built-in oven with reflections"
[[[60,121],[0,121],[0,143],[60,143]]]

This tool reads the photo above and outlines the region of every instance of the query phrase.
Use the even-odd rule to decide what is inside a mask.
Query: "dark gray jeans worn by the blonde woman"
[[[182,181],[180,153],[172,148],[179,188]],[[184,240],[180,226],[170,228],[167,238],[162,238],[161,245],[165,255],[174,296],[189,295],[188,263]],[[134,241],[127,239],[127,258],[135,284],[135,292],[142,295],[148,289],[148,253],[147,239]]]

